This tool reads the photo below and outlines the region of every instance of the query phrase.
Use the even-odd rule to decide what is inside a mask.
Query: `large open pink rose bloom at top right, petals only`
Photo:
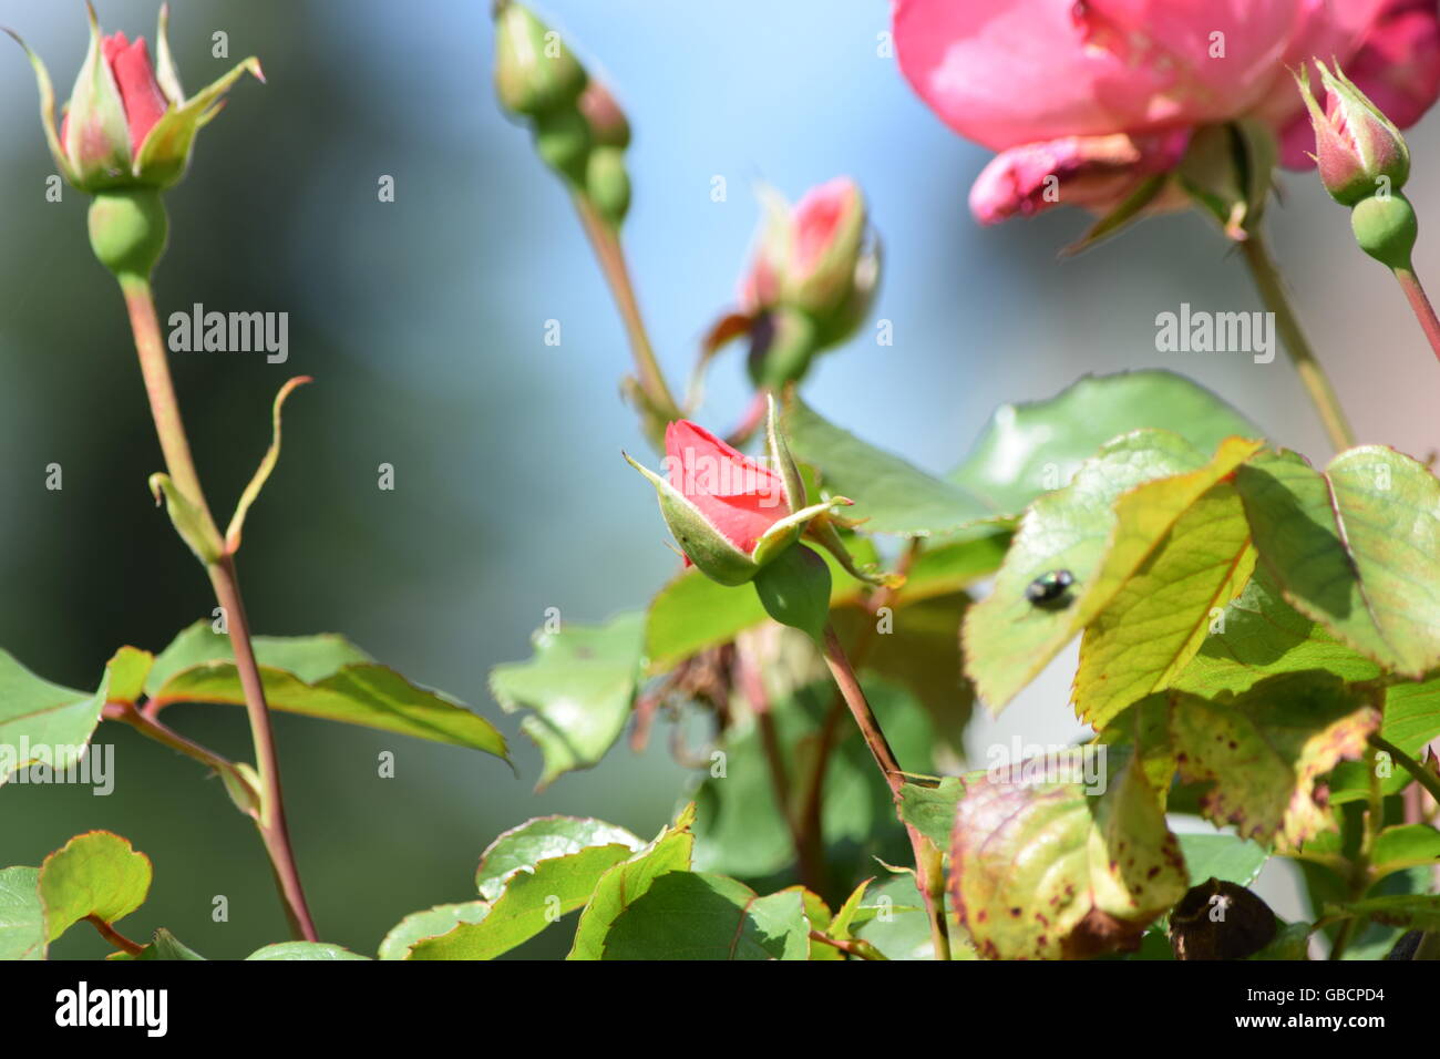
[[[1316,55],[1336,58],[1398,125],[1410,125],[1440,92],[1437,7],[894,0],[894,39],[900,69],[936,114],[1001,153],[971,199],[994,223],[1053,205],[1040,195],[1050,174],[1066,186],[1066,202],[1103,210],[1176,164],[1176,144],[1191,130],[1241,117],[1276,130],[1287,166],[1308,166],[1309,124],[1287,66]],[[1107,138],[1117,134],[1130,143]]]

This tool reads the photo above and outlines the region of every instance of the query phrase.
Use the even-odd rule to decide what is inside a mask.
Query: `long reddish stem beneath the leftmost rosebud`
[[[174,383],[170,379],[170,363],[160,337],[160,321],[156,318],[156,300],[150,281],[138,275],[122,275],[121,291],[130,310],[130,326],[135,334],[135,352],[140,354],[140,370],[145,379],[145,393],[150,398],[150,414],[160,435],[160,448],[166,457],[166,468],[176,488],[183,493],[209,523],[210,532],[219,539],[215,519],[200,490],[200,475],[190,455],[190,441],[180,421],[180,402],[176,399]],[[285,804],[279,784],[279,759],[275,754],[275,738],[271,732],[269,709],[265,703],[265,687],[261,683],[259,666],[251,645],[249,622],[245,617],[245,602],[235,572],[235,558],[225,553],[219,562],[207,563],[210,584],[216,601],[225,612],[226,628],[235,650],[235,669],[245,692],[245,712],[251,720],[251,739],[255,743],[255,764],[259,774],[259,816],[255,820],[275,867],[285,915],[291,929],[307,941],[317,941],[315,925],[305,905],[305,892],[295,867],[295,854],[289,844],[289,828],[285,824]]]

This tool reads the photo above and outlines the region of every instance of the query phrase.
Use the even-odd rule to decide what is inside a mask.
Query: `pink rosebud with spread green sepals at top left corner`
[[[75,79],[60,131],[55,128],[55,89],[45,63],[16,37],[35,68],[45,138],[60,173],[84,192],[168,187],[190,161],[200,125],[246,71],[264,81],[253,56],[186,99],[166,36],[168,7],[160,9],[157,61],[144,37],[101,37],[89,9],[91,43]],[[14,36],[14,35],[12,35]]]

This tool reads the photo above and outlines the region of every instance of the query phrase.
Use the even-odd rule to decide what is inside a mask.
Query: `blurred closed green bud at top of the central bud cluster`
[[[539,117],[570,110],[588,76],[575,55],[523,4],[495,4],[495,92],[511,114]]]

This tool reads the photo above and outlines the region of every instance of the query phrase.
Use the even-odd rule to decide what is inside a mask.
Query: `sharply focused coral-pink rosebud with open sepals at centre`
[[[768,464],[739,452],[688,419],[665,429],[665,477],[625,457],[660,496],[665,524],[687,563],[721,585],[743,585],[837,504],[805,506],[805,486],[779,434],[770,402]]]

